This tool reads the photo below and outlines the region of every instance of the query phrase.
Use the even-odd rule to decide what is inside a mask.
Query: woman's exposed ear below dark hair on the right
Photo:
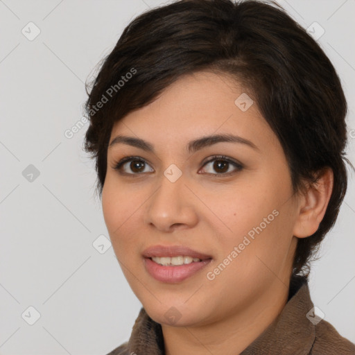
[[[293,227],[293,235],[306,238],[317,232],[333,190],[334,175],[331,168],[322,172],[315,184],[309,184],[299,200],[298,216]]]

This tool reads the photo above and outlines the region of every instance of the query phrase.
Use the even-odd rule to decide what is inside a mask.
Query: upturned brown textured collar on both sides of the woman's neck
[[[315,326],[306,314],[312,308],[306,278],[293,277],[282,313],[241,355],[309,354],[315,340]],[[143,307],[132,328],[128,349],[130,354],[164,355],[162,326]]]

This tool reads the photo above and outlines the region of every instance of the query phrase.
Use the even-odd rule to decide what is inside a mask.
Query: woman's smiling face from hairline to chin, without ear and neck
[[[222,74],[183,76],[112,129],[105,223],[132,291],[161,324],[216,322],[288,286],[297,200],[282,146],[246,92]]]

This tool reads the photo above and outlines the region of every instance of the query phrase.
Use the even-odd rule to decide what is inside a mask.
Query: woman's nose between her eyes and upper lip
[[[196,225],[198,215],[193,193],[185,185],[184,175],[172,182],[162,174],[160,185],[148,199],[146,223],[162,232],[187,229]]]

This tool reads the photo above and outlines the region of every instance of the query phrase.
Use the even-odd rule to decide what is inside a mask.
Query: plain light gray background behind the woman
[[[162,3],[0,1],[2,355],[107,354],[130,336],[141,304],[107,240],[101,202],[94,196],[94,165],[81,149],[87,123],[71,139],[64,132],[82,118],[85,80],[123,28]],[[302,26],[316,21],[324,28],[318,42],[344,85],[352,136],[348,152],[355,164],[355,1],[279,3]],[[30,21],[40,29],[31,41],[21,33],[24,28],[35,35]],[[315,35],[320,31],[315,28]],[[353,342],[354,196],[351,173],[310,282],[314,304]],[[36,311],[29,306],[40,313],[33,325],[28,322],[36,320]]]

